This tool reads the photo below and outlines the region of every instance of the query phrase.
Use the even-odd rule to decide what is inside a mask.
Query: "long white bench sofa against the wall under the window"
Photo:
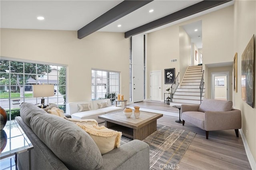
[[[99,108],[98,103],[107,101],[108,107]],[[90,104],[91,110],[78,112],[78,104]],[[67,105],[67,113],[75,119],[95,119],[98,123],[104,122],[98,119],[99,115],[122,110],[121,107],[112,106],[110,99],[72,102]]]

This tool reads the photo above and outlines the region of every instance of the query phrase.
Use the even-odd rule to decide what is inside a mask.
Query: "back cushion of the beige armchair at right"
[[[232,101],[204,99],[200,104],[198,111],[230,111],[232,106]]]

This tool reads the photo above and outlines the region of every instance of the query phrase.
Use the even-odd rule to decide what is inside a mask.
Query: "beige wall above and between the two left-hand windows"
[[[91,69],[121,73],[121,93],[129,98],[129,39],[124,33],[1,29],[1,57],[67,65],[68,102],[91,100]]]

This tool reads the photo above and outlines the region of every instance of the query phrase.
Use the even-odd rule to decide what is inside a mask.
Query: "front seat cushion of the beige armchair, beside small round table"
[[[204,129],[204,112],[200,111],[185,111],[182,113],[182,119],[188,121],[197,127]]]

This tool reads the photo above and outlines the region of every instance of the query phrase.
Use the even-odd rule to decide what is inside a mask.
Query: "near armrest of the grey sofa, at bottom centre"
[[[149,146],[140,140],[133,140],[102,155],[100,170],[149,170]]]

